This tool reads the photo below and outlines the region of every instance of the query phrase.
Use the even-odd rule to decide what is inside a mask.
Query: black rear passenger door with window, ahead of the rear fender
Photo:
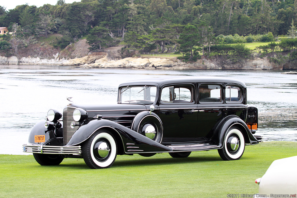
[[[225,117],[223,85],[198,84],[198,120],[196,140],[210,140],[214,130]]]

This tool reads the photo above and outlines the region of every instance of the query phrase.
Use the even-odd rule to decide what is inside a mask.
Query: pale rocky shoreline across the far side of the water
[[[185,63],[176,57],[129,57],[121,58],[121,47],[105,51],[89,52],[81,58],[67,59],[59,53],[53,58],[23,57],[20,65],[61,65],[80,68],[126,68],[126,69],[234,69],[234,70],[297,70],[297,64],[276,64],[268,58],[253,58],[243,62],[222,64],[216,59],[201,58],[194,63]],[[0,56],[0,64],[18,64],[15,56]]]

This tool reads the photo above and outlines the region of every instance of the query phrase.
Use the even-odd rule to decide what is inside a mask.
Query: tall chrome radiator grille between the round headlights
[[[70,124],[71,122],[75,122],[73,120],[72,114],[75,110],[74,107],[66,107],[63,110],[63,140],[64,145],[66,145],[75,131],[78,129],[79,126],[75,126],[74,129],[71,129]],[[79,122],[75,122],[75,124],[79,124]]]

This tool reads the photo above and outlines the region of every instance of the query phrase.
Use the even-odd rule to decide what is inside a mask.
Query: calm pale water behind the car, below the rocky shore
[[[296,115],[292,114],[297,108],[297,75],[284,75],[281,72],[2,65],[0,154],[26,154],[22,152],[21,145],[27,143],[31,128],[45,118],[50,108],[62,112],[69,103],[67,97],[73,97],[75,103],[116,102],[120,83],[165,76],[219,76],[241,80],[247,85],[249,104],[256,106],[259,114],[276,116],[259,124],[257,134],[263,135],[266,141],[297,141]],[[278,111],[282,112],[286,120],[275,121],[278,120]]]

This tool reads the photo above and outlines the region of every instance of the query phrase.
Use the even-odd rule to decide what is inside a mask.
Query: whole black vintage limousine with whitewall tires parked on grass
[[[246,85],[239,80],[138,80],[119,85],[117,104],[68,104],[63,116],[49,110],[47,119],[32,128],[23,151],[41,165],[83,158],[93,169],[135,153],[187,157],[217,149],[223,160],[236,160],[246,144],[261,140],[253,135],[257,124],[257,108],[247,106]]]

